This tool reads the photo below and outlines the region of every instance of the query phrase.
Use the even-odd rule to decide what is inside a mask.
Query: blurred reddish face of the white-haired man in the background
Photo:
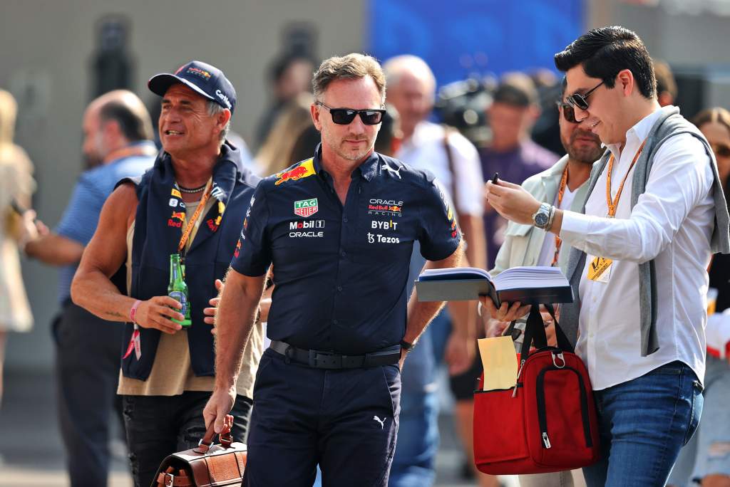
[[[397,82],[388,85],[388,103],[392,104],[401,117],[401,129],[412,133],[418,122],[424,120],[434,107],[433,83],[406,71]]]

